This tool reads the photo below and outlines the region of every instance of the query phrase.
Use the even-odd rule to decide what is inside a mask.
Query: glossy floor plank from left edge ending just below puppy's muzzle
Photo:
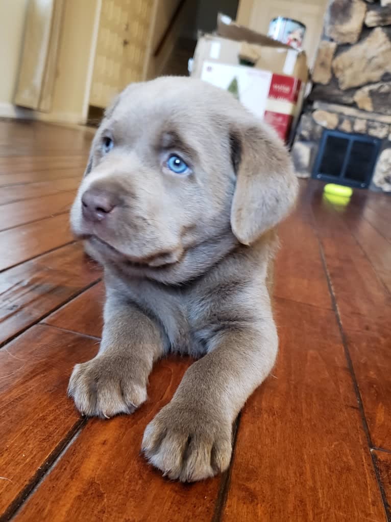
[[[0,345],[99,281],[101,275],[79,243],[2,272]]]

